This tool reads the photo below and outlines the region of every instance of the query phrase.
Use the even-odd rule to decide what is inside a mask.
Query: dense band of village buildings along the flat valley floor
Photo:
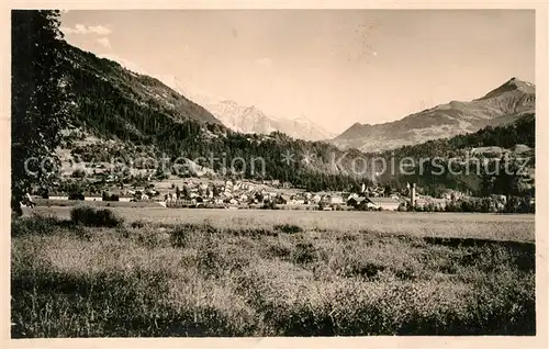
[[[112,187],[114,188],[114,187]],[[407,183],[404,190],[362,184],[357,192],[309,192],[279,180],[212,180],[184,178],[148,182],[145,185],[122,184],[115,190],[93,193],[53,194],[44,196],[51,203],[64,200],[139,202],[167,209],[270,209],[323,211],[447,211],[449,205],[467,199],[462,192],[447,190],[442,198],[421,193],[421,188]],[[492,198],[490,212],[504,210],[507,198]],[[114,205],[114,203],[113,203]]]

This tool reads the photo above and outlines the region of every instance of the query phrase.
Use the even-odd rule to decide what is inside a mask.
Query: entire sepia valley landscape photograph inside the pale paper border
[[[535,10],[10,16],[12,339],[539,335]]]

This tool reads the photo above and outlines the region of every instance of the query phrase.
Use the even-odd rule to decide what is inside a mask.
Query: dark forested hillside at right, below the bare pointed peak
[[[382,154],[388,161],[415,164],[380,180],[395,188],[415,182],[433,195],[448,188],[475,195],[534,195],[535,128],[535,115],[527,114],[507,125],[389,150]]]

